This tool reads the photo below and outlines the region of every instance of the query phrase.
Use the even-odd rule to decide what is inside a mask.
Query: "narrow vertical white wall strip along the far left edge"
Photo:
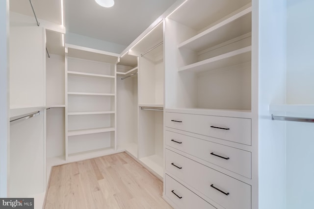
[[[7,196],[9,139],[9,0],[0,1],[0,197]]]

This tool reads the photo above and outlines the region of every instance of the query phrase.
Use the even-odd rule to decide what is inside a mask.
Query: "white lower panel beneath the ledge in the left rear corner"
[[[47,110],[46,122],[47,158],[64,156],[65,154],[65,124],[64,108]]]

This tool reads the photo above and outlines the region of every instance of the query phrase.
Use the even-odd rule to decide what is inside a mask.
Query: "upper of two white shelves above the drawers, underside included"
[[[252,7],[241,10],[230,18],[179,44],[178,48],[202,51],[220,43],[250,33],[252,30]]]

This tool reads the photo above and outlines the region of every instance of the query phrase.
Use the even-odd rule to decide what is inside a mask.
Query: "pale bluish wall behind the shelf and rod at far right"
[[[314,0],[287,0],[288,104],[314,104],[313,9]],[[306,116],[314,117],[314,113],[309,114]],[[314,124],[286,125],[287,209],[313,208]]]

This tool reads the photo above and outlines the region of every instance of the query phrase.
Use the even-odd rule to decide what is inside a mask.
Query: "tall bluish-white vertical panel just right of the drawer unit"
[[[259,209],[286,208],[285,123],[268,112],[286,102],[285,65],[286,0],[259,0]]]

